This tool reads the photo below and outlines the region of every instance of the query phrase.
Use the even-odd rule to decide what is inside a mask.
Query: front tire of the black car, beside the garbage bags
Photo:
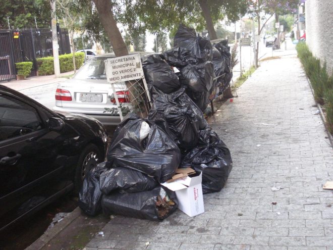
[[[88,144],[82,151],[78,164],[76,166],[74,177],[74,193],[80,192],[85,175],[98,163],[102,162],[102,156],[98,147],[94,144]]]

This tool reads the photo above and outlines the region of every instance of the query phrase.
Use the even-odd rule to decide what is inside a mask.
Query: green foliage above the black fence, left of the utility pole
[[[0,29],[34,28],[35,18],[38,28],[50,27],[51,6],[49,0],[4,0],[0,8]]]

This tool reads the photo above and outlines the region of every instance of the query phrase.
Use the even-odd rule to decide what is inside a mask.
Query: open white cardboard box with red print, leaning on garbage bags
[[[161,185],[175,191],[179,203],[178,208],[193,217],[204,213],[205,210],[201,186],[202,173],[197,172],[190,176],[172,182],[164,182]]]

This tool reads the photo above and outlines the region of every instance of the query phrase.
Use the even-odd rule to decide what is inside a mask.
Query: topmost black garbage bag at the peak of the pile
[[[197,37],[194,29],[179,25],[174,39],[174,47],[179,47],[180,51],[186,48],[190,53],[180,55],[182,61],[190,63],[203,63],[212,58],[212,46],[208,38]]]

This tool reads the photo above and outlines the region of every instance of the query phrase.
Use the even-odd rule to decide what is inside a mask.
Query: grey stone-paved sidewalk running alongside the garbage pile
[[[237,92],[209,121],[234,167],[223,190],[204,195],[205,213],[116,216],[86,250],[333,249],[333,193],[322,189],[332,147],[296,55],[261,63]]]

